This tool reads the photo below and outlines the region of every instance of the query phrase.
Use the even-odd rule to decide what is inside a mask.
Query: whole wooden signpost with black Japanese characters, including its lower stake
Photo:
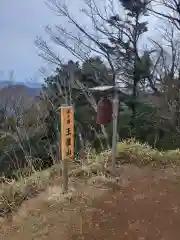
[[[68,161],[74,159],[74,110],[72,106],[60,108],[61,137],[60,156],[62,159],[63,192],[68,191]]]

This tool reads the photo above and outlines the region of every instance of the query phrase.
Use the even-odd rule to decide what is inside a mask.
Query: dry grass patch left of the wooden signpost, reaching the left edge
[[[27,200],[39,192],[45,190],[55,176],[60,172],[60,166],[36,172],[19,181],[1,183],[0,186],[0,217],[15,211],[24,200]]]

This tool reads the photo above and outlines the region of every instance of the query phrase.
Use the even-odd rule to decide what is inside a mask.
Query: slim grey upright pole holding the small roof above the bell
[[[117,149],[117,126],[119,112],[119,94],[117,89],[114,90],[113,99],[113,136],[112,136],[112,172],[116,172],[116,149]]]

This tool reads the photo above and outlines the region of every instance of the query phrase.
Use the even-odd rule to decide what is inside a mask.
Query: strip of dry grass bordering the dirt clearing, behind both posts
[[[159,152],[146,144],[141,144],[133,139],[118,143],[117,160],[123,163],[144,165],[180,165],[180,150]],[[106,151],[99,155],[91,155],[80,167],[71,170],[70,177],[90,178],[94,175],[107,179],[111,176],[109,165],[111,152]],[[60,165],[50,169],[36,172],[30,177],[21,177],[18,181],[1,183],[0,186],[0,216],[6,216],[39,192],[45,190],[53,180],[60,175]],[[109,178],[110,179],[110,178]]]

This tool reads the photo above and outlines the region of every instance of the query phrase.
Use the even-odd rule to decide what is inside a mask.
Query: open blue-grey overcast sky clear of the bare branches
[[[74,15],[80,1],[71,0]],[[37,54],[34,40],[36,36],[47,38],[44,26],[58,21],[44,0],[0,0],[0,79],[8,80],[11,70],[17,81],[39,79],[38,69],[46,65]],[[154,34],[154,26],[157,21],[153,18],[150,35]],[[61,56],[68,58],[70,55],[61,50]]]

